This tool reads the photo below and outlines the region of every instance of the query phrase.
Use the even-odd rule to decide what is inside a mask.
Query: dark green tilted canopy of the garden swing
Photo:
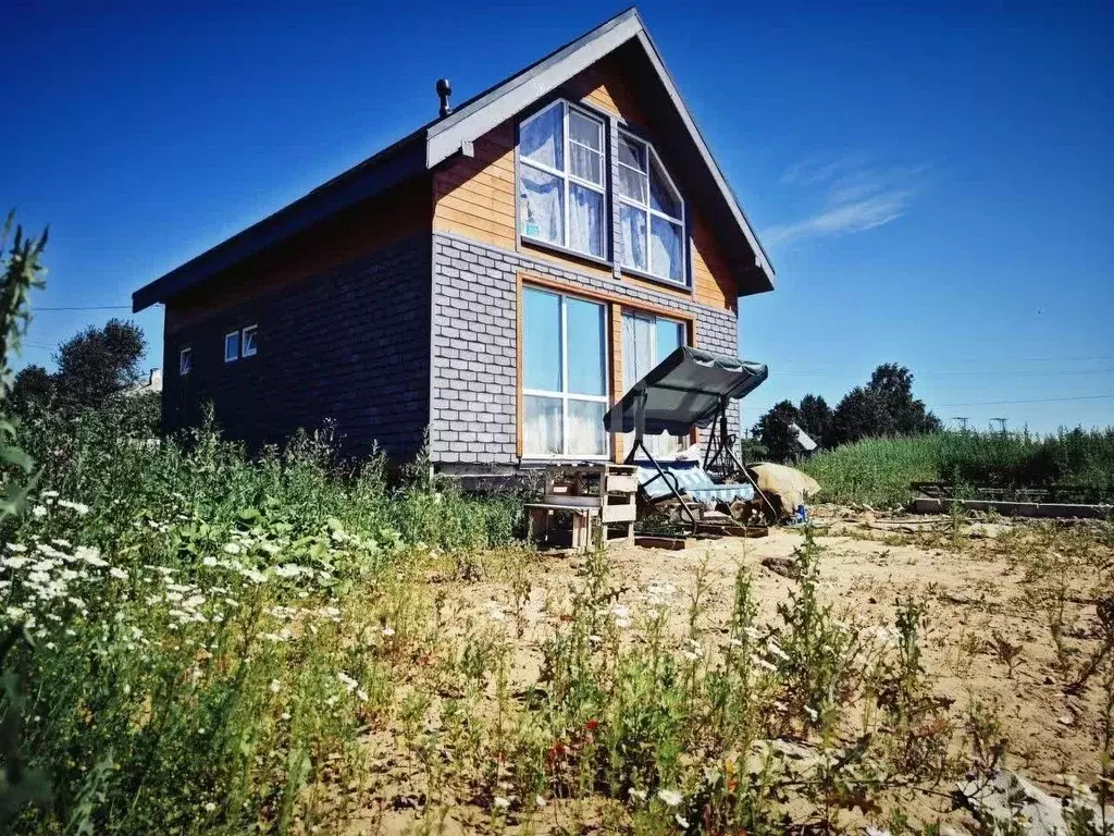
[[[710,426],[724,399],[749,395],[769,373],[764,363],[682,346],[631,387],[604,416],[604,427],[610,432],[634,431],[635,406],[645,391],[645,431],[683,436],[693,427]]]

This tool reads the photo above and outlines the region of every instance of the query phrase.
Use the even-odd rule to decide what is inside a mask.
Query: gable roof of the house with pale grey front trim
[[[730,225],[742,235],[753,255],[750,272],[755,282],[747,292],[772,290],[774,271],[770,257],[696,127],[642,17],[637,9],[631,8],[465,101],[448,116],[427,123],[305,196],[140,288],[131,294],[133,310],[141,311],[163,302],[338,212],[434,168],[458,152],[469,153],[472,142],[612,51],[628,45],[641,48],[647,59],[722,198],[732,222]]]

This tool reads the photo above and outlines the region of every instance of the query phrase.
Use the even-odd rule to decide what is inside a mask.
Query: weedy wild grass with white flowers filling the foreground
[[[931,832],[907,810],[1000,764],[994,718],[936,698],[926,602],[883,626],[828,602],[810,533],[766,620],[744,566],[712,619],[706,563],[683,593],[606,553],[539,609],[520,497],[421,463],[392,485],[328,436],[251,458],[212,428],[119,426],[23,428],[46,469],[0,533],[0,618],[26,632],[0,758],[50,791],[13,833],[375,832],[399,810],[417,832]],[[477,579],[509,603],[446,592]],[[1074,679],[1106,682],[1110,653],[1049,623]]]

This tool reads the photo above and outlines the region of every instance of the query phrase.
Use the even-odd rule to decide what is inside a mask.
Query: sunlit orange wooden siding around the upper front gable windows
[[[612,114],[637,126],[653,140],[653,129],[646,125],[644,108],[635,84],[616,55],[610,55],[575,76],[566,85],[573,100]],[[461,235],[505,250],[519,249],[564,268],[590,275],[610,276],[605,265],[565,255],[545,246],[519,243],[516,235],[517,196],[515,184],[515,121],[508,120],[475,143],[475,156],[456,157],[433,173],[433,230]],[[683,177],[675,167],[674,178],[684,189]],[[694,298],[711,308],[735,310],[736,283],[715,233],[702,213],[687,204],[692,231],[690,259],[693,290],[682,290],[633,275],[622,281],[653,288],[677,297]]]

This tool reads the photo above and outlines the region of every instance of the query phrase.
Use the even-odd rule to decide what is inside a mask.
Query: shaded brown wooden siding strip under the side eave
[[[429,181],[394,188],[217,274],[166,304],[166,332],[430,230]]]

